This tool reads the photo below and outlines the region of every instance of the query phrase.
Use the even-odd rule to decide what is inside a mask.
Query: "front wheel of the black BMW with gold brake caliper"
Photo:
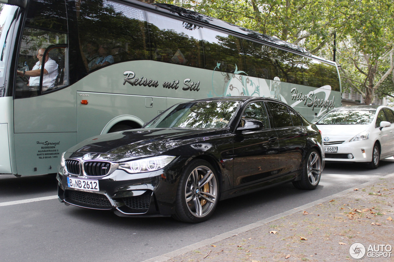
[[[192,161],[180,177],[173,217],[189,223],[207,220],[217,205],[218,185],[216,171],[208,162]]]

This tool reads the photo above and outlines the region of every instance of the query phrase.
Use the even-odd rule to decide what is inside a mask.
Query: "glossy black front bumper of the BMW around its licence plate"
[[[179,169],[178,169],[179,170]],[[67,177],[95,180],[99,191],[71,188]],[[177,173],[173,171],[129,174],[115,170],[106,177],[74,176],[59,165],[58,199],[66,205],[112,210],[118,216],[171,216],[175,211],[178,185]]]

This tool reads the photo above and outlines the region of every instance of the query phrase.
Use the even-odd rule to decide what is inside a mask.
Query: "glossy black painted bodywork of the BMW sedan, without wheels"
[[[275,128],[275,120],[269,116],[264,129],[237,129],[247,105],[256,101],[262,107],[268,101],[284,103],[251,97],[210,98],[190,103],[200,101],[236,101],[238,107],[223,128],[150,128],[148,123],[141,129],[81,142],[65,152],[64,159],[69,161],[66,168],[59,165],[59,201],[85,208],[111,209],[119,216],[170,216],[175,213],[180,175],[195,159],[203,159],[214,168],[219,178],[219,199],[300,179],[305,156],[312,148],[321,155],[324,167],[321,135],[302,116],[299,116],[301,126]],[[128,173],[119,169],[124,162],[161,155],[175,158],[152,172]],[[111,170],[105,176],[88,175],[85,164],[89,161],[91,164],[110,162]],[[68,173],[67,164],[74,164],[79,171],[74,175]],[[106,167],[102,168],[106,171]],[[97,181],[99,191],[72,188],[69,178],[82,179],[82,183]]]

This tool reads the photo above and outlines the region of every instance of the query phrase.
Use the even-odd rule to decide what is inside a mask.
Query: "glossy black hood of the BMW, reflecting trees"
[[[109,133],[88,138],[70,148],[67,153],[100,153],[145,157],[167,149],[220,136],[224,129],[142,128]],[[74,155],[74,154],[73,154]]]

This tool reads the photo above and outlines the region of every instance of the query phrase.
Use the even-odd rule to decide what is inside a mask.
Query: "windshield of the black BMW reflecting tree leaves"
[[[238,105],[235,101],[182,103],[153,119],[145,128],[223,128],[229,124]]]

